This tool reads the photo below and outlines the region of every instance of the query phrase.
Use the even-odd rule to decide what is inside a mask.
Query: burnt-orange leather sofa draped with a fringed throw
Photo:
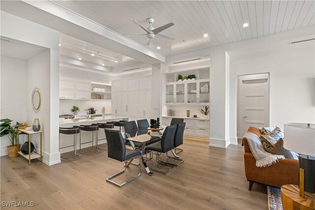
[[[250,127],[248,132],[260,137],[261,133],[258,128]],[[247,180],[250,182],[249,190],[252,190],[253,182],[266,184],[273,187],[281,187],[285,184],[298,185],[299,161],[285,158],[279,159],[279,162],[267,167],[256,167],[256,159],[248,144],[251,139],[243,138],[245,149],[244,164]]]

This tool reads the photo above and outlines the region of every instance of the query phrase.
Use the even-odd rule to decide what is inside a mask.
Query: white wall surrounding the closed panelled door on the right
[[[270,126],[315,122],[315,41],[284,43],[272,51],[231,57],[231,90],[237,75],[270,73]],[[230,93],[236,103],[236,91]],[[242,137],[239,137],[242,138]]]

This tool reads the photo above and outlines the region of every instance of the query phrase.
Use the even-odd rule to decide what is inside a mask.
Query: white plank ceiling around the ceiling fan
[[[315,24],[314,0],[55,2],[121,35],[144,34],[132,20],[147,27],[146,18],[153,17],[155,28],[173,22],[175,25],[161,34],[175,40],[156,37],[149,46],[166,56]],[[243,28],[244,23],[249,27]],[[205,33],[209,34],[206,38]],[[129,38],[146,44],[145,36]]]

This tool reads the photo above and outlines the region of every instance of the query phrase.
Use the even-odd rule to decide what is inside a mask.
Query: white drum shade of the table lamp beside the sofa
[[[315,156],[315,124],[285,123],[284,148],[304,154]]]

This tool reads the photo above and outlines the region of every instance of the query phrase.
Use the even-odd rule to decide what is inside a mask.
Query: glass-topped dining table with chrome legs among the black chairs
[[[141,135],[138,135],[138,134],[140,134],[139,130],[125,132],[124,140],[129,141],[132,148],[140,151],[142,155],[144,155],[143,152],[145,151],[145,146],[147,145],[148,141],[155,140],[161,137],[161,135],[158,132],[151,132],[151,133],[148,132],[147,134],[141,134]],[[134,144],[135,142],[142,143],[142,146],[140,148],[136,147]],[[150,171],[147,163],[145,162],[143,158],[142,158],[142,165],[144,166],[148,175],[154,175],[154,173]]]

